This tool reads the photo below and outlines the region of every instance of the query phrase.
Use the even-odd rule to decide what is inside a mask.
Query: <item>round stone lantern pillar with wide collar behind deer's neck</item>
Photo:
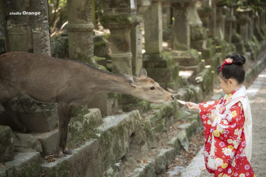
[[[130,31],[142,21],[142,18],[136,15],[136,1],[104,0],[103,11],[101,24],[104,28],[110,29],[112,72],[132,73]]]

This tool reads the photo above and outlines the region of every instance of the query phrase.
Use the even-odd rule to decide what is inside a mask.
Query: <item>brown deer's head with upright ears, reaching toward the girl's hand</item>
[[[125,78],[133,86],[133,94],[135,97],[150,102],[173,101],[174,96],[165,91],[159,83],[147,77],[144,68],[140,69],[139,78],[124,72]]]

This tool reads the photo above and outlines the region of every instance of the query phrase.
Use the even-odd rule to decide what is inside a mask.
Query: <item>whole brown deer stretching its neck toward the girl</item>
[[[87,63],[48,55],[8,52],[0,55],[0,103],[18,128],[27,132],[9,101],[23,95],[36,102],[57,103],[59,157],[72,154],[66,146],[67,128],[73,106],[88,104],[100,93],[121,93],[149,101],[173,101],[174,96],[147,77],[100,70]]]

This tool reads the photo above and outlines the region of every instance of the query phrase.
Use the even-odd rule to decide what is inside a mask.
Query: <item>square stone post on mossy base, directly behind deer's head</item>
[[[145,54],[143,67],[148,76],[164,88],[176,90],[178,82],[178,65],[169,53],[163,52],[162,1],[154,0],[144,12]]]

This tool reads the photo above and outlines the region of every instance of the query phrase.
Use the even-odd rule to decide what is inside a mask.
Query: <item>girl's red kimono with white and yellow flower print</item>
[[[234,95],[233,91],[227,97]],[[205,102],[199,104],[200,117],[204,126],[204,159],[205,165],[210,173],[214,176],[255,176],[250,163],[244,153],[246,146],[243,124],[245,121],[244,111],[241,102],[236,103],[230,108],[223,118],[216,117],[211,123],[209,116],[216,109],[221,107],[224,100]],[[220,108],[219,108],[220,109]],[[222,111],[222,108],[220,109]],[[213,132],[213,136],[212,136]],[[214,137],[214,156],[210,155],[212,137]],[[210,156],[210,157],[209,157]],[[213,159],[215,169],[208,166],[208,160]],[[212,160],[212,161],[213,161]]]

